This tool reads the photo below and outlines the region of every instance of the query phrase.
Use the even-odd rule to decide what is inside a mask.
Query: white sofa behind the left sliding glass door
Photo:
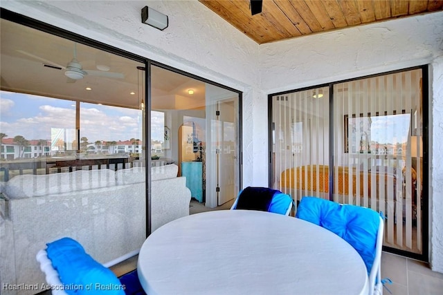
[[[175,164],[152,168],[152,231],[189,214],[190,190]],[[146,231],[145,168],[19,175],[1,187],[0,284],[45,282],[35,255],[46,242],[78,240],[106,266],[138,253]],[[1,294],[36,294],[8,290]]]

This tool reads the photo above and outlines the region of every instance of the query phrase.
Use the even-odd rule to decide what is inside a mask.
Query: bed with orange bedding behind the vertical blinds
[[[384,182],[383,181],[384,177]],[[385,171],[363,171],[347,166],[338,166],[334,169],[334,193],[342,196],[367,197],[372,196],[371,189],[377,191],[379,187],[385,187],[385,198],[392,196],[395,199],[396,177],[395,173]],[[350,181],[352,187],[350,187]],[[373,185],[375,184],[375,185]],[[316,193],[329,192],[329,166],[307,165],[287,169],[282,172],[280,186],[297,191],[309,191]],[[358,193],[357,193],[358,192]]]

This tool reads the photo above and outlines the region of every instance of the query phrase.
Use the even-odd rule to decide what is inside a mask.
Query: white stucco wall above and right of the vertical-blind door
[[[423,64],[431,65],[433,127],[429,252],[433,270],[443,272],[443,12],[263,44],[260,88],[276,93]]]

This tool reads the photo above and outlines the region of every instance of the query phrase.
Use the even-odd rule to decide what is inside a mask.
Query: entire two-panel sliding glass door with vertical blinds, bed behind
[[[272,95],[273,187],[379,211],[383,245],[426,259],[423,81],[415,68]]]

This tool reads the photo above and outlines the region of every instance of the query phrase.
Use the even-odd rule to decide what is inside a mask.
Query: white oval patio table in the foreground
[[[368,294],[355,249],[317,225],[276,213],[221,210],[160,227],[143,243],[149,295]]]

